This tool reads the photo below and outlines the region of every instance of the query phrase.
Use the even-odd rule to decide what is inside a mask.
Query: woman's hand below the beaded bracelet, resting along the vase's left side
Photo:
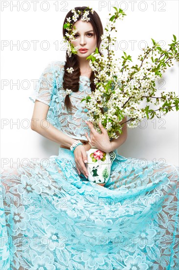
[[[89,148],[89,147],[88,147]],[[78,145],[75,150],[74,150],[74,160],[76,163],[76,168],[79,174],[81,174],[81,172],[84,174],[84,176],[88,179],[88,171],[87,168],[85,166],[85,161],[88,162],[87,159],[87,152],[88,150],[86,150],[87,147],[85,147],[85,145]]]

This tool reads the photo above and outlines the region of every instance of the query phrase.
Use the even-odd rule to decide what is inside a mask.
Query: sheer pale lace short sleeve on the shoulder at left
[[[46,105],[50,106],[52,95],[54,92],[54,73],[52,62],[48,63],[43,73],[41,74],[39,81],[36,84],[36,88],[29,96],[29,99],[33,102],[39,100]]]

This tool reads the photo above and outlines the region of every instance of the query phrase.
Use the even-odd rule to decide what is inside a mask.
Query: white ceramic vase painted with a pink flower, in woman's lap
[[[98,148],[91,147],[87,151],[88,180],[96,184],[107,183],[111,174],[111,165],[116,155],[114,152],[103,152]]]

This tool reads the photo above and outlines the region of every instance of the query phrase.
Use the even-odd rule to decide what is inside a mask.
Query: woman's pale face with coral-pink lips
[[[74,35],[75,40],[71,40],[74,47],[77,47],[77,56],[80,58],[87,58],[92,54],[97,46],[97,38],[94,37],[93,27],[90,22],[79,20],[74,26],[76,27],[76,34]],[[74,29],[74,28],[72,28]],[[80,51],[80,49],[88,49],[86,52]]]

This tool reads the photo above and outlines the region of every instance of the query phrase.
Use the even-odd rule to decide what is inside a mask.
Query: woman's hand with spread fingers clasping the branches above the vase
[[[85,121],[90,129],[90,137],[86,133],[86,137],[92,146],[104,151],[111,152],[111,142],[107,130],[99,123],[99,128],[102,134],[99,134],[93,127],[93,124],[89,121]]]

